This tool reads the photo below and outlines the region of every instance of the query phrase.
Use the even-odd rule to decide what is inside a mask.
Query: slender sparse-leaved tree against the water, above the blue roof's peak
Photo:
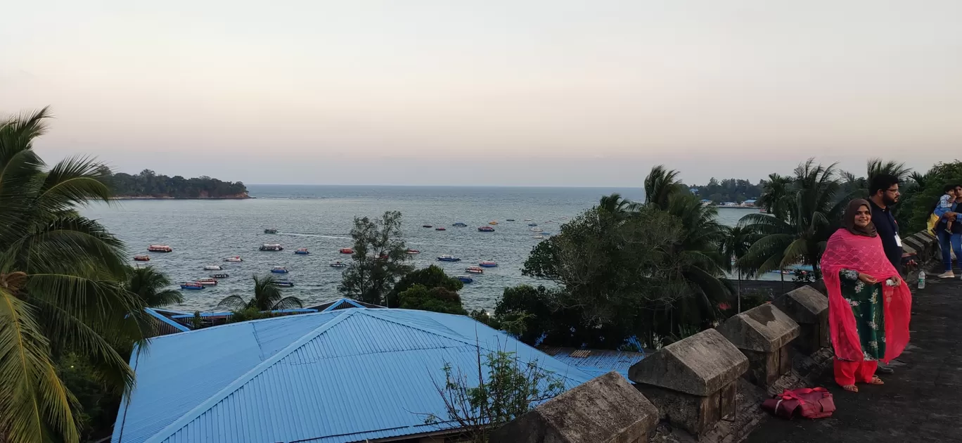
[[[412,270],[405,263],[410,257],[401,233],[401,213],[389,210],[377,220],[354,217],[351,238],[354,255],[338,289],[352,299],[386,305],[394,283]]]

